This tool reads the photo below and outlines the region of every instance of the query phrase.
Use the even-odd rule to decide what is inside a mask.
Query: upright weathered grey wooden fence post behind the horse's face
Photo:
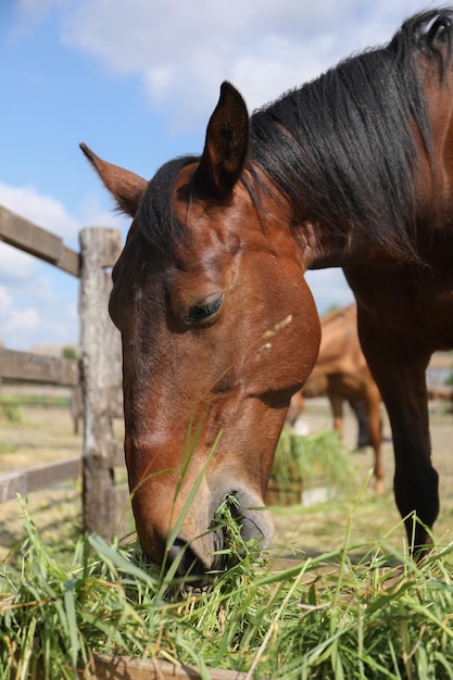
[[[84,528],[110,540],[117,520],[112,394],[121,385],[121,338],[109,313],[110,273],[122,250],[116,229],[89,227],[80,242],[80,382],[84,408]]]

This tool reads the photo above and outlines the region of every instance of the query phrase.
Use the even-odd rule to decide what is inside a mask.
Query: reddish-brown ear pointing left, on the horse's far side
[[[86,144],[81,143],[79,146],[106,189],[112,193],[118,209],[126,215],[135,217],[147,190],[148,181],[130,171],[102,161]]]

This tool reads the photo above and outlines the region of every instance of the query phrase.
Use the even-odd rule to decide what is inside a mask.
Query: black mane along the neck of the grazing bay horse
[[[354,223],[395,255],[416,256],[414,122],[435,171],[416,56],[436,60],[442,78],[452,24],[451,9],[419,13],[387,46],[340,62],[253,114],[252,161],[301,215],[310,211],[339,234]]]

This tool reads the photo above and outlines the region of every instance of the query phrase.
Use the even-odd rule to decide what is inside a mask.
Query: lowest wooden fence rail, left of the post
[[[48,489],[80,475],[81,457],[45,463],[28,469],[14,470],[0,476],[0,503],[13,501],[17,493],[25,496],[33,491]]]

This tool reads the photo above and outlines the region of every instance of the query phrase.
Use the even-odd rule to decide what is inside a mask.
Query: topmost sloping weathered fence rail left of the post
[[[73,276],[79,275],[79,255],[63,240],[0,205],[0,239],[10,245],[53,264]]]

